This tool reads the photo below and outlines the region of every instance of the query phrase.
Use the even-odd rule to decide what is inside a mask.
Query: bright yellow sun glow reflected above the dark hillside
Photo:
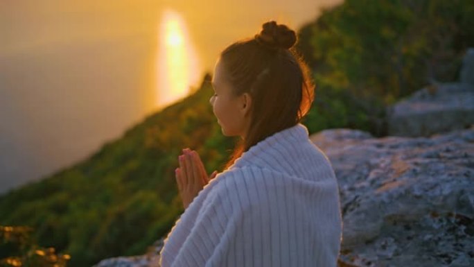
[[[179,13],[165,10],[158,32],[156,105],[163,107],[187,96],[200,72],[186,24]]]

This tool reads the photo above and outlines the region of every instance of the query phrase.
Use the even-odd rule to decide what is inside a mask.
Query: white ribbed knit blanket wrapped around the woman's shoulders
[[[331,267],[341,241],[335,173],[298,123],[204,186],[166,236],[160,264]]]

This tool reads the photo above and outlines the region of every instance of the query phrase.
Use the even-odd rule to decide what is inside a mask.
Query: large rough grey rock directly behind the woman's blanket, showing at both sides
[[[474,266],[474,125],[430,138],[335,129],[310,139],[340,186],[341,267]],[[94,267],[158,266],[162,244]]]

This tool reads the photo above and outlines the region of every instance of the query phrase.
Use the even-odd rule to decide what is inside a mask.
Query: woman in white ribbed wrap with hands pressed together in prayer
[[[313,103],[295,31],[275,21],[220,54],[210,103],[222,134],[240,136],[225,171],[179,156],[185,211],[166,236],[162,267],[336,266],[340,201],[328,158],[300,123]]]

